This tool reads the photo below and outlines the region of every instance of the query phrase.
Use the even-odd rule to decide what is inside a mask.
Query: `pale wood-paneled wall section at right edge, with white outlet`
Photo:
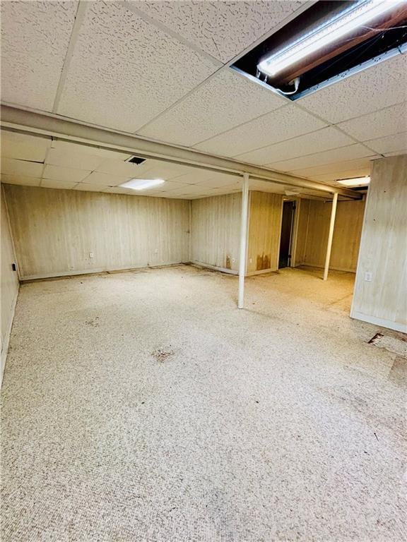
[[[350,315],[407,332],[407,155],[372,162]]]

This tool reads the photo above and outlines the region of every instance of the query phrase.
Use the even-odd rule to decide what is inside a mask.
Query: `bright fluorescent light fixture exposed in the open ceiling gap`
[[[352,2],[352,6],[322,24],[312,32],[308,32],[292,44],[271,54],[257,66],[261,73],[275,76],[291,64],[313,54],[318,49],[339,40],[341,37],[369,23],[386,11],[403,4],[406,0],[360,0]]]

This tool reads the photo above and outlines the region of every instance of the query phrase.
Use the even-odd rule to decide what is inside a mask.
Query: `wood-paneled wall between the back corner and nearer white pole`
[[[239,270],[242,194],[192,200],[191,260],[223,270]]]

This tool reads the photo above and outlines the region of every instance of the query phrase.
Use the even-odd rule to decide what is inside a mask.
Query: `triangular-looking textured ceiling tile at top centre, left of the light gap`
[[[292,16],[300,1],[131,2],[224,63]]]

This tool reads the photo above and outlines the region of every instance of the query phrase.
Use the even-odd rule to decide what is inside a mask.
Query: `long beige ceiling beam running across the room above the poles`
[[[191,148],[160,143],[141,138],[138,135],[113,131],[109,128],[100,128],[72,121],[58,115],[28,111],[5,104],[1,104],[1,127],[24,133],[52,136],[85,145],[125,152],[127,154],[130,152],[143,158],[155,158],[164,162],[222,171],[232,175],[242,176],[242,174],[247,173],[252,179],[271,181],[297,188],[308,188],[309,190],[317,190],[324,193],[338,193],[352,199],[360,199],[361,197],[360,194],[348,188],[329,186],[317,181],[310,181],[309,179],[302,179],[302,177],[285,174],[281,171],[257,167],[230,158],[208,155]]]

